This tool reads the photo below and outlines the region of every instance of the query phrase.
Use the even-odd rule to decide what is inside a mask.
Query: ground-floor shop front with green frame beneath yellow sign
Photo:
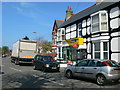
[[[65,61],[86,59],[87,49],[80,48],[81,45],[84,45],[83,38],[73,38],[64,42],[67,42],[67,45],[62,48],[62,56]]]

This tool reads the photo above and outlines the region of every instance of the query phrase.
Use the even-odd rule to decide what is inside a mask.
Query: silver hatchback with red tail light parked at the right
[[[113,60],[86,59],[65,69],[65,76],[89,78],[96,80],[98,85],[105,85],[107,81],[119,81],[120,65]]]

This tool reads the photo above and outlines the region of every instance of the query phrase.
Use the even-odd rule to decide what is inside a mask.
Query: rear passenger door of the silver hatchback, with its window
[[[96,73],[99,71],[99,67],[96,66],[97,64],[97,60],[90,60],[88,63],[88,66],[84,68],[84,76],[86,78],[95,78],[96,77]]]

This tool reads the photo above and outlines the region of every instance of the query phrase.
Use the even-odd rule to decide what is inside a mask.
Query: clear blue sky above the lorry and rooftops
[[[78,13],[93,4],[95,2],[3,2],[2,46],[12,49],[13,43],[25,36],[52,41],[54,20],[65,20],[68,6]]]

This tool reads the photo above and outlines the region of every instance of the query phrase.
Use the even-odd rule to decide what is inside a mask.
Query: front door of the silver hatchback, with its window
[[[75,65],[75,70],[74,70],[74,73],[75,73],[75,76],[78,76],[78,77],[84,77],[84,68],[87,66],[88,64],[88,60],[81,60],[79,63],[77,63]]]

